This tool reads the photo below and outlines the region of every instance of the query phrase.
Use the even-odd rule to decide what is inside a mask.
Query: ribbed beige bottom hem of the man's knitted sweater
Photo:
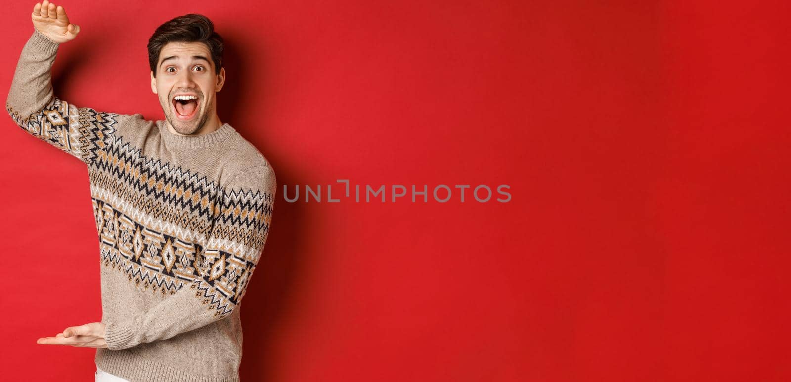
[[[99,369],[130,382],[239,382],[238,373],[235,376],[196,376],[145,358],[132,350],[100,348],[95,361]]]

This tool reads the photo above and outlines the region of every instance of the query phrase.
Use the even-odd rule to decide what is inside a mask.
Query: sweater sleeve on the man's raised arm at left
[[[26,133],[90,164],[129,115],[77,107],[56,97],[51,68],[58,48],[34,28],[17,62],[6,110]]]

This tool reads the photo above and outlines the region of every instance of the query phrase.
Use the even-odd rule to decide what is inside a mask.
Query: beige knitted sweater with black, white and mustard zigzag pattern
[[[88,167],[108,343],[97,366],[133,382],[239,380],[240,302],[267,241],[273,168],[227,123],[181,136],[59,99],[58,47],[34,30],[6,109]]]

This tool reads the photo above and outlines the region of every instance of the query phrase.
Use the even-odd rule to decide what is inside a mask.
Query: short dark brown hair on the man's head
[[[214,24],[208,17],[190,13],[173,18],[161,24],[149,39],[149,66],[153,77],[157,77],[157,62],[162,47],[168,43],[204,43],[209,48],[214,61],[214,73],[219,74],[222,67],[222,37],[214,32]]]

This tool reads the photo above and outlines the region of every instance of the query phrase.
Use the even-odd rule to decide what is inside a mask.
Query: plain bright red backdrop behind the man
[[[6,92],[34,4],[3,9]],[[162,119],[147,40],[202,13],[228,44],[219,116],[280,185],[511,186],[278,189],[242,380],[791,378],[787,2],[58,4],[78,106]],[[87,170],[0,125],[2,378],[91,380],[94,350],[36,344],[100,320]]]

